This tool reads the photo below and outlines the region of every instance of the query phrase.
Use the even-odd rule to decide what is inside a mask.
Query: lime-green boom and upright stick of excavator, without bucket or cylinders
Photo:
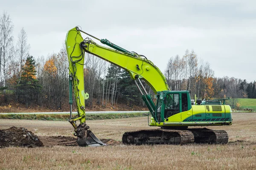
[[[81,50],[80,43],[84,43]],[[84,48],[86,47],[86,48]],[[77,110],[80,123],[85,122],[84,105],[84,52],[93,54],[101,59],[111,62],[125,71],[128,71],[132,79],[141,78],[152,88],[154,93],[157,91],[169,90],[166,78],[150,60],[137,55],[123,53],[111,48],[105,48],[93,42],[84,41],[80,31],[76,28],[68,31],[66,36],[66,48],[69,60],[70,74],[73,75],[73,89],[76,99]]]

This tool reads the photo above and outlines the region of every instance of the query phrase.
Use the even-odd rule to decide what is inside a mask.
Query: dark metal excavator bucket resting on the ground
[[[91,130],[88,130],[90,127],[85,123],[80,125],[76,130],[77,143],[79,146],[105,146],[106,144],[101,142]]]

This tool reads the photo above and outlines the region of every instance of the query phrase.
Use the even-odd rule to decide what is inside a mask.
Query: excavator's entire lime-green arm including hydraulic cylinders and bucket
[[[155,118],[156,106],[149,94],[145,91],[140,79],[143,79],[157,94],[158,91],[169,90],[166,82],[166,78],[162,72],[157,68],[150,60],[146,59],[143,55],[139,55],[135,52],[130,52],[121,48],[106,39],[100,40],[103,44],[110,46],[111,48],[106,48],[98,45],[93,40],[86,38],[83,39],[81,36],[81,31],[78,27],[68,31],[66,36],[66,48],[69,60],[69,71],[70,71],[70,120],[69,122],[75,128],[75,135],[78,136],[79,145],[89,145],[93,143],[88,143],[88,139],[84,136],[94,136],[93,133],[88,130],[88,126],[85,124],[85,102],[84,99],[87,98],[88,94],[84,93],[84,53],[93,54],[105,61],[108,61],[120,68],[123,68],[130,74],[131,79],[137,88],[140,90],[139,85],[143,89],[140,90],[142,98],[145,104],[148,106],[151,115]],[[85,33],[87,34],[87,33]],[[90,35],[90,34],[89,34]],[[90,35],[91,36],[91,35]],[[92,36],[93,37],[93,36]],[[96,37],[94,37],[96,38]],[[96,38],[97,39],[97,38]],[[99,40],[99,39],[98,39]],[[139,84],[137,83],[137,81]],[[78,116],[72,117],[72,89],[76,100],[76,107],[78,111]],[[76,121],[80,121],[80,125],[76,125]],[[85,129],[85,130],[84,130]],[[90,134],[87,132],[90,131]],[[88,138],[88,137],[87,137]],[[87,143],[86,143],[87,142]],[[94,143],[99,143],[94,142]]]

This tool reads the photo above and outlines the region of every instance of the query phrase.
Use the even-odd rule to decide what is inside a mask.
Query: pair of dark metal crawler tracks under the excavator
[[[228,135],[225,130],[194,128],[186,130],[154,129],[125,132],[123,144],[226,144]]]

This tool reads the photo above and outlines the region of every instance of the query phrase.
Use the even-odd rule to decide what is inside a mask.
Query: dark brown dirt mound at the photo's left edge
[[[11,127],[0,130],[0,148],[1,147],[41,147],[44,144],[31,131],[24,127]]]

